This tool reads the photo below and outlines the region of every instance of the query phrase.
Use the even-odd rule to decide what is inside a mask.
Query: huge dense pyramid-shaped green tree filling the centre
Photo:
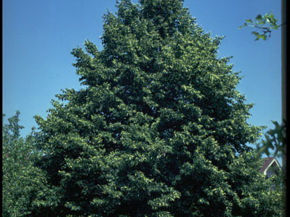
[[[103,50],[75,48],[66,89],[35,138],[55,216],[279,216],[248,142],[251,104],[181,0],[117,3]]]

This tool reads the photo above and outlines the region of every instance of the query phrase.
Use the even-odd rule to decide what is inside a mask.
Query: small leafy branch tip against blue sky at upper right
[[[246,22],[243,26],[239,26],[239,28],[244,28],[246,26],[250,26],[255,28],[256,30],[252,32],[255,35],[255,41],[259,39],[266,40],[271,37],[272,30],[278,30],[282,24],[277,23],[277,19],[275,19],[275,15],[271,12],[266,13],[265,15],[257,15],[254,20],[246,19]]]

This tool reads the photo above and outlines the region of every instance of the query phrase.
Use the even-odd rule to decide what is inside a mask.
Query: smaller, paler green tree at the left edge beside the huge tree
[[[33,209],[47,202],[44,198],[54,194],[46,186],[44,173],[33,165],[39,157],[32,146],[33,137],[20,137],[23,126],[19,125],[19,114],[17,111],[8,118],[8,124],[2,128],[2,216],[31,216]]]

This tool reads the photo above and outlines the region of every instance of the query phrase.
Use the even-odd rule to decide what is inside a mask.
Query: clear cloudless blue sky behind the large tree
[[[136,2],[136,0],[134,1]],[[61,89],[79,89],[72,48],[85,39],[99,48],[103,14],[116,12],[115,0],[3,0],[3,113],[19,110],[27,135],[34,115],[46,117]],[[220,57],[233,56],[234,71],[244,76],[238,86],[251,109],[249,122],[273,127],[281,120],[280,30],[267,41],[255,41],[253,29],[238,29],[245,19],[273,12],[281,20],[278,0],[185,0],[197,23],[212,36],[224,35]]]

